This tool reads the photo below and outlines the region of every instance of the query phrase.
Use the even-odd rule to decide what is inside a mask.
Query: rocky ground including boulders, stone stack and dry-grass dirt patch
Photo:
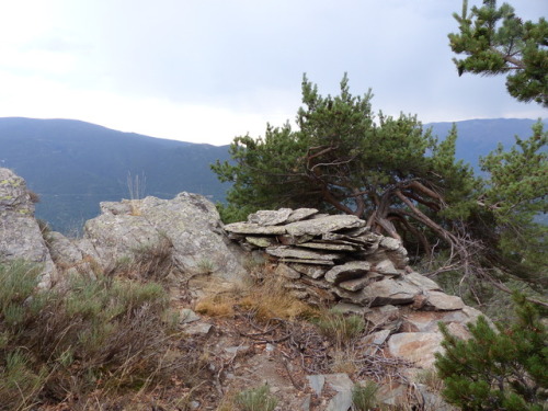
[[[33,213],[24,181],[0,169],[0,261],[43,264],[42,287],[125,261],[167,262],[146,272],[165,273],[181,318],[171,354],[195,364],[96,409],[226,411],[266,384],[278,411],[347,411],[353,387],[370,380],[379,404],[449,409],[418,375],[441,350],[437,322],[467,338],[480,312],[356,217],[281,209],[224,226],[210,202],[181,193],[102,203],[83,238],[68,239],[41,230]]]

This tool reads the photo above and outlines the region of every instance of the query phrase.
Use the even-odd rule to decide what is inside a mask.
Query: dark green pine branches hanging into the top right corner
[[[507,3],[483,0],[483,5],[454,13],[458,33],[449,34],[450,47],[467,57],[454,59],[459,76],[507,75],[509,93],[522,102],[535,101],[548,107],[548,22],[523,21]]]

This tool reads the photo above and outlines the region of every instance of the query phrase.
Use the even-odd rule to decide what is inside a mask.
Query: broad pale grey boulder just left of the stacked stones
[[[112,204],[103,204],[102,209],[105,208],[112,209]],[[227,279],[246,275],[239,262],[243,251],[230,244],[224,235],[215,205],[197,194],[134,201],[126,214],[103,213],[87,221],[84,238],[93,244],[103,266],[168,241],[173,263],[182,272],[199,272],[207,263],[214,275]]]

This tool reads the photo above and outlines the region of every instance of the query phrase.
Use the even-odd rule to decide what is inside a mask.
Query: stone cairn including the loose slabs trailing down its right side
[[[248,251],[273,262],[289,293],[363,315],[374,331],[374,346],[388,341],[392,355],[419,367],[431,367],[441,350],[438,321],[467,338],[464,326],[481,315],[414,272],[398,240],[372,232],[355,216],[313,208],[260,210],[225,230]]]

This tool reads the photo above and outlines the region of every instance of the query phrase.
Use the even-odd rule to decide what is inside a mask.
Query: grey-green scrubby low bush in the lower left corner
[[[160,284],[78,275],[38,290],[39,273],[0,265],[0,410],[140,387],[153,375],[168,338]]]

